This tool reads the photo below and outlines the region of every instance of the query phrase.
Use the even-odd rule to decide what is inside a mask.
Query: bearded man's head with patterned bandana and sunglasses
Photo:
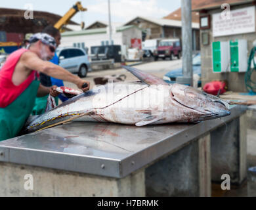
[[[42,60],[51,60],[56,49],[56,42],[47,33],[35,33],[30,37],[30,46]]]

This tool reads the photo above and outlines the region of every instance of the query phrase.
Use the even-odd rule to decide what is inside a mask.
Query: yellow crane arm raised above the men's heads
[[[75,5],[68,11],[66,12],[66,14],[64,14],[64,16],[62,18],[60,18],[60,20],[58,20],[58,22],[56,22],[56,24],[54,25],[54,28],[60,30],[60,31],[64,31],[62,29],[62,27],[66,24],[68,24],[68,22],[70,22],[70,19],[76,14],[76,12],[78,11],[87,11],[86,8],[83,8],[83,6],[81,5],[81,1],[77,1],[77,3],[75,3]],[[82,22],[83,24],[83,22]],[[83,26],[82,26],[83,28]]]

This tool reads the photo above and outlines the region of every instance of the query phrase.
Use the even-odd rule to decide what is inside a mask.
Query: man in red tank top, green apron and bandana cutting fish
[[[14,51],[1,68],[0,141],[18,135],[32,112],[36,96],[57,95],[54,87],[39,84],[37,72],[75,83],[83,91],[89,90],[89,82],[47,61],[53,58],[55,48],[53,37],[35,33],[30,37],[30,48]]]

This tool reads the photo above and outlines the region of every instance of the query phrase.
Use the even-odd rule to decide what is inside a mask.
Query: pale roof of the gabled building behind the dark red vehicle
[[[127,24],[131,24],[131,22],[133,22],[133,20],[136,20],[137,18],[146,20],[148,22],[152,22],[154,24],[158,24],[160,26],[181,27],[181,21],[179,21],[179,20],[169,20],[169,19],[163,19],[163,18],[152,18],[152,17],[143,17],[143,16],[137,16],[137,17],[129,20],[129,22],[123,24],[123,26],[125,26]],[[199,24],[192,22],[192,28],[199,28]]]

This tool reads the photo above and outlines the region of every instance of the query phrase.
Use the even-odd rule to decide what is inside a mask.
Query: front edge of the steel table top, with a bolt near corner
[[[0,162],[120,178],[120,159],[0,146]]]

